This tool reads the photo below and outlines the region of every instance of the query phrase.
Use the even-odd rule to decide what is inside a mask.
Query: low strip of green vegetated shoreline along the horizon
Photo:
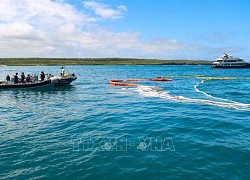
[[[158,60],[132,58],[0,58],[6,66],[56,65],[210,65],[206,60]]]

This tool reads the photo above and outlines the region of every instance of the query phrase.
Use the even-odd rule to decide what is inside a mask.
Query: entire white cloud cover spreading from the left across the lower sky
[[[0,57],[167,59],[218,49],[170,38],[143,41],[140,32],[112,32],[98,26],[98,21],[122,18],[127,10],[125,6],[112,9],[95,1],[83,4],[98,17],[88,14],[88,10],[77,10],[63,0],[1,0]]]

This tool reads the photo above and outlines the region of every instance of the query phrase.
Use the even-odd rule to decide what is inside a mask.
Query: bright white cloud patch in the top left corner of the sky
[[[85,24],[96,19],[77,11],[72,5],[52,0],[1,0],[0,21],[26,21],[38,25],[74,22]]]

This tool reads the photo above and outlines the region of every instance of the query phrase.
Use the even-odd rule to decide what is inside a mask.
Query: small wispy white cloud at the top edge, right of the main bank
[[[105,19],[119,19],[124,17],[124,13],[127,11],[126,6],[119,5],[116,9],[110,8],[106,4],[98,3],[96,1],[83,1],[82,4],[93,10],[98,16]]]

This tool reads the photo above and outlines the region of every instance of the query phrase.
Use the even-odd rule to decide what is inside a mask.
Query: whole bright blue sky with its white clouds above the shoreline
[[[0,57],[250,60],[248,0],[2,0]]]

